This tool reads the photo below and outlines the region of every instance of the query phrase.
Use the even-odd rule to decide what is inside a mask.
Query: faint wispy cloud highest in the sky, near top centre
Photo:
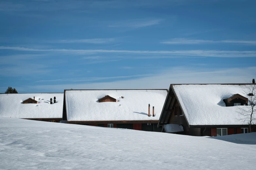
[[[130,27],[130,28],[141,28],[147,27],[152,25],[158,25],[162,19],[154,19],[154,20],[147,20],[147,21],[126,21],[126,22],[119,22],[113,25],[109,25],[109,27]]]

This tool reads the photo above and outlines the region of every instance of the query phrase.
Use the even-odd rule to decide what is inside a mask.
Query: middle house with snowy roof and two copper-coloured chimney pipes
[[[161,131],[157,123],[167,92],[167,89],[65,90],[63,122]]]

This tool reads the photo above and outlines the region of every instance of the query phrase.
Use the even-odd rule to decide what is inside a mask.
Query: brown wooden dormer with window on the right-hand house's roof
[[[230,98],[223,99],[226,106],[247,106],[248,105],[248,98],[240,95],[234,94]]]

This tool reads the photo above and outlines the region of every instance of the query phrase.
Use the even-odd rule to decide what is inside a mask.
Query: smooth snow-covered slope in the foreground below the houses
[[[0,169],[254,169],[256,133],[196,137],[0,117]]]

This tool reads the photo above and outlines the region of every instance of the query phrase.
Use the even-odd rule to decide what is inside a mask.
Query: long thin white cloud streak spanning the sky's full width
[[[45,52],[69,52],[73,54],[91,53],[132,53],[132,54],[158,54],[158,55],[180,55],[180,56],[201,56],[201,57],[256,57],[256,51],[229,51],[229,50],[172,50],[172,51],[150,51],[150,50],[74,50],[74,49],[32,49],[24,47],[0,46],[0,50],[18,51],[45,51]],[[161,56],[159,57],[161,58]],[[164,56],[166,58],[166,56]]]

